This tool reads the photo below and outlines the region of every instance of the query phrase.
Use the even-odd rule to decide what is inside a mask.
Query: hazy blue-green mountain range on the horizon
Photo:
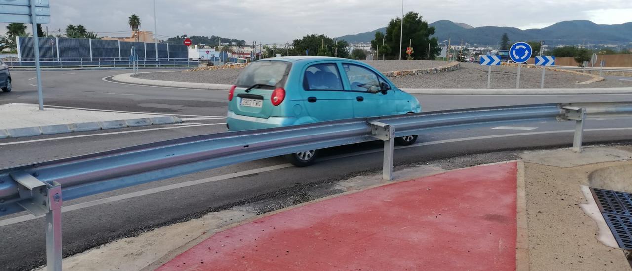
[[[441,20],[429,24],[435,27],[434,37],[439,42],[452,40],[452,44],[459,44],[461,39],[469,44],[495,45],[501,40],[503,33],[514,41],[540,41],[548,45],[559,44],[628,44],[632,42],[632,22],[617,25],[599,25],[587,20],[559,22],[544,28],[521,30],[516,27],[471,27],[465,23],[454,23]],[[386,27],[363,32],[355,35],[343,35],[337,39],[354,42],[370,42],[375,32],[386,32]],[[632,45],[632,44],[631,44]]]

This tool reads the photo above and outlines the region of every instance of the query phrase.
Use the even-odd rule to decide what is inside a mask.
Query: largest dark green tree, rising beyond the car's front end
[[[391,19],[389,25],[386,27],[386,34],[384,35],[384,39],[386,40],[385,49],[388,51],[380,52],[386,54],[389,59],[399,59],[399,54],[402,56],[406,56],[406,46],[399,47],[399,36],[401,32],[401,18]],[[411,58],[415,60],[434,60],[440,53],[441,48],[439,48],[439,41],[436,37],[430,37],[435,34],[434,27],[428,27],[428,23],[422,20],[422,16],[419,16],[419,13],[415,13],[413,11],[406,13],[404,15],[404,28],[403,28],[403,39],[404,41],[409,41],[411,47],[413,47],[413,54],[411,54]],[[374,39],[371,43],[374,44],[382,44],[382,41],[379,40],[379,36],[377,39]],[[406,43],[406,42],[404,42]],[[430,46],[430,56],[428,56],[428,46]],[[399,49],[396,49],[399,48]]]

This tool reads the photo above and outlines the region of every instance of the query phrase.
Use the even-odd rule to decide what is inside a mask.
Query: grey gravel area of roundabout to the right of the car
[[[511,89],[516,87],[518,68],[513,66],[492,66],[492,89]],[[484,89],[487,88],[487,66],[474,63],[461,63],[461,68],[453,72],[422,74],[416,76],[391,77],[391,81],[403,88],[446,88],[446,89]],[[520,88],[540,88],[542,70],[526,68],[520,71]],[[576,84],[592,77],[569,72],[547,70],[545,88],[557,87],[629,87],[631,81],[609,80],[592,84]]]

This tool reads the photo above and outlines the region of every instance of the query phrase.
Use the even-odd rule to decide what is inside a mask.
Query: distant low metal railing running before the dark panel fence
[[[4,58],[9,68],[35,68],[35,58]],[[130,58],[40,58],[42,68],[106,68],[129,67]],[[188,58],[138,58],[143,67],[197,67],[198,60]]]

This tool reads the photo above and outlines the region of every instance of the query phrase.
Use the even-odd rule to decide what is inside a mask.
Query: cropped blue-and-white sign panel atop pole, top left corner
[[[0,0],[0,22],[32,23],[31,2],[35,3],[35,22],[50,23],[49,0]]]

